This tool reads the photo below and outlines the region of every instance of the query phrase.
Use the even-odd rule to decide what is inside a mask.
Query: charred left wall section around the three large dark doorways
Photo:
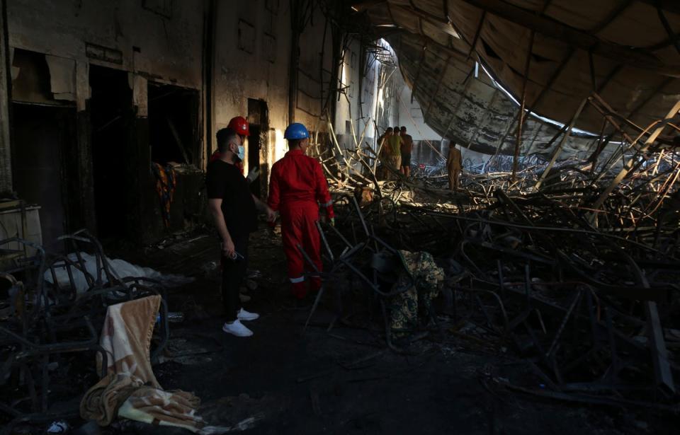
[[[66,171],[68,195],[62,195],[62,199],[77,213],[69,214],[64,230],[80,226],[97,229],[96,202],[101,201],[101,192],[94,182],[93,134],[107,124],[91,124],[91,69],[103,67],[103,71],[124,74],[124,85],[131,95],[121,105],[124,109],[111,117],[113,127],[108,127],[125,130],[121,143],[106,151],[112,157],[123,155],[123,159],[112,158],[112,162],[125,162],[118,168],[116,181],[127,195],[125,202],[118,204],[125,209],[125,219],[118,225],[130,238],[150,239],[162,233],[150,169],[149,134],[154,132],[149,132],[148,126],[147,89],[149,83],[165,83],[200,92],[203,3],[13,0],[6,8],[13,104],[73,110],[76,127],[71,135],[75,146],[62,150],[62,160],[78,164]],[[98,103],[106,106],[106,101]],[[18,195],[21,197],[22,192]],[[49,220],[49,213],[44,209],[41,218]]]

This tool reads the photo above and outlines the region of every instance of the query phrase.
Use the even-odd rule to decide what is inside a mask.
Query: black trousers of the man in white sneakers
[[[239,289],[246,278],[246,270],[248,269],[249,234],[231,234],[231,236],[236,252],[243,258],[237,257],[236,260],[232,260],[222,255],[222,307],[227,323],[236,320],[241,309]]]

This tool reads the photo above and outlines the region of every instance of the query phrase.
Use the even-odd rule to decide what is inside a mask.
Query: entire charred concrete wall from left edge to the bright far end
[[[62,182],[61,200],[68,204],[54,213],[46,207],[41,216],[57,219],[52,222],[54,228],[87,226],[106,233],[101,231],[101,218],[119,213],[109,220],[122,229],[108,228],[110,235],[120,233],[143,243],[161,237],[166,229],[182,229],[182,216],[186,218],[200,204],[192,196],[200,195],[194,192],[199,189],[188,188],[200,185],[197,172],[178,172],[176,179],[182,186],[176,190],[169,211],[171,226],[166,228],[152,161],[189,163],[204,170],[208,155],[216,148],[215,132],[238,115],[247,117],[255,131],[246,142],[249,158],[245,163],[246,170],[253,164],[263,170],[259,187],[254,189],[258,195],[266,195],[268,169],[288,151],[283,132],[291,122],[290,108],[295,122],[321,133],[319,141],[327,138],[331,119],[339,139],[353,144],[348,134],[351,120],[356,134],[361,136],[365,129],[365,140],[372,144],[376,120],[379,126],[397,121],[392,79],[399,72],[379,62],[368,66],[370,54],[357,41],[344,47],[340,56],[338,33],[332,31],[322,9],[314,6],[299,35],[297,68],[292,71],[295,80],[291,81],[293,3],[8,2],[8,38],[4,41],[8,42],[10,67],[4,72],[11,75],[13,91],[8,110],[12,104],[59,108],[60,116],[68,117],[65,124],[72,126],[66,136],[60,132],[64,145],[55,154],[68,164],[57,168],[54,163],[51,171],[65,174],[65,181],[55,182]],[[183,108],[186,115],[172,119],[173,111],[164,108],[171,101],[186,101],[192,107]],[[177,117],[190,119],[191,126],[181,125]],[[13,122],[28,125],[24,120]],[[6,156],[0,163],[0,182],[11,186],[12,180],[3,178],[11,160]],[[28,172],[23,174],[25,183]],[[119,188],[102,188],[111,182]],[[103,204],[107,201],[115,207]],[[30,202],[40,203],[40,197]],[[64,216],[64,222],[54,216]]]

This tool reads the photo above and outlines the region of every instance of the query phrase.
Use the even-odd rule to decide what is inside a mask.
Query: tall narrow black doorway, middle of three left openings
[[[97,233],[101,239],[125,236],[131,186],[130,126],[132,90],[128,73],[90,66],[92,172]]]

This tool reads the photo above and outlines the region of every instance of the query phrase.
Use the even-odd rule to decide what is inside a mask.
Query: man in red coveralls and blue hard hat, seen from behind
[[[321,271],[321,244],[315,224],[319,220],[319,204],[326,209],[331,225],[335,224],[335,219],[324,171],[316,159],[305,156],[310,142],[307,128],[297,122],[290,124],[283,137],[288,139],[290,151],[271,167],[268,204],[274,211],[280,211],[288,278],[292,284],[293,296],[302,299],[307,296],[303,274],[305,259],[297,245],[302,246]],[[321,287],[321,280],[312,279],[310,287],[312,291],[317,291]]]

